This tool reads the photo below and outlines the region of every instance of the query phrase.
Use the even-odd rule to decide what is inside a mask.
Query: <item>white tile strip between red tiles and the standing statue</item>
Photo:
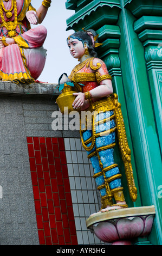
[[[98,193],[93,178],[93,168],[82,148],[79,138],[65,138],[66,157],[77,241],[79,245],[101,245],[102,242],[90,233],[86,227],[86,219],[99,211]]]

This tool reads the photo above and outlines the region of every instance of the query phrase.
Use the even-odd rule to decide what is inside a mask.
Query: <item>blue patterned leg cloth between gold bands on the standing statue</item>
[[[96,121],[103,120],[105,118],[109,118],[113,114],[114,114],[113,111],[101,112],[96,116]],[[96,134],[98,134],[99,132],[108,131],[108,130],[112,129],[113,127],[115,127],[114,119],[106,121],[106,123],[96,125],[96,127],[95,127]],[[86,130],[86,131],[82,132],[83,141],[86,141],[90,137],[92,137],[92,130]],[[87,154],[89,155],[90,153],[93,153],[93,151],[95,151],[96,148],[105,147],[106,145],[110,145],[112,143],[115,143],[115,131],[107,134],[106,136],[96,137],[94,148],[91,151],[87,151]],[[87,144],[87,147],[89,147],[90,145],[91,145],[91,142],[89,144]],[[112,164],[114,164],[114,149],[113,148],[99,151],[99,156],[100,156],[100,160],[101,160],[103,168],[109,167]],[[102,172],[102,168],[100,167],[100,163],[99,163],[99,159],[98,159],[97,155],[90,157],[90,161],[94,168],[94,174]],[[106,178],[111,178],[112,176],[119,174],[119,173],[120,173],[119,168],[114,167],[110,170],[107,170],[107,172],[105,172],[105,176],[106,176]],[[105,184],[103,175],[96,177],[95,182],[98,187]],[[109,187],[111,189],[116,188],[116,187],[121,187],[121,180],[115,179],[115,180],[109,182]],[[106,196],[106,188],[105,187],[100,189],[100,194],[101,194],[101,197]]]

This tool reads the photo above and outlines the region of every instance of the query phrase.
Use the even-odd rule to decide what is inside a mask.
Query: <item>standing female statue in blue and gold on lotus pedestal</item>
[[[74,109],[90,111],[92,129],[81,123],[80,135],[83,148],[87,150],[88,158],[94,168],[94,178],[101,195],[101,211],[127,208],[121,174],[118,164],[114,163],[115,129],[123,131],[122,117],[118,95],[113,94],[112,77],[106,64],[97,57],[95,47],[97,35],[93,30],[79,31],[70,35],[67,44],[72,56],[79,60],[69,77],[61,76],[60,84],[73,82],[77,88],[74,92]],[[75,90],[76,91],[76,90]],[[113,95],[112,95],[113,94]],[[112,96],[111,96],[112,95]],[[88,117],[87,117],[88,118]],[[91,121],[91,120],[90,120]],[[118,124],[116,124],[118,123]],[[122,127],[119,126],[122,124]],[[124,138],[123,138],[124,137]],[[125,159],[126,176],[131,191],[132,200],[137,198],[130,163],[130,150],[125,132],[119,136],[122,144],[122,155]]]

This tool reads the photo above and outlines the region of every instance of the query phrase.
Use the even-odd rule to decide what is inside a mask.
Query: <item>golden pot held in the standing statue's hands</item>
[[[68,86],[66,83],[64,84],[64,88],[62,89],[62,93],[57,97],[56,102],[57,105],[60,108],[60,111],[62,114],[69,114],[72,111],[80,111],[80,108],[74,109],[72,104],[75,100],[75,95],[73,93],[76,93],[74,90],[72,90],[71,86]],[[64,109],[66,107],[66,109]],[[64,111],[66,112],[64,113]]]

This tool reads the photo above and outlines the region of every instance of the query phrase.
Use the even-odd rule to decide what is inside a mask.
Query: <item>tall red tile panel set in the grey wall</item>
[[[63,138],[27,137],[40,245],[77,245]]]

